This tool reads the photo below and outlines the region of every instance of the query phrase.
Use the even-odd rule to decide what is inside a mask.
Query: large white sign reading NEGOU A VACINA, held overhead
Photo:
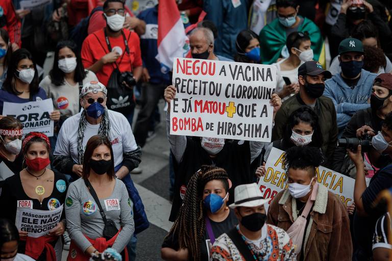
[[[271,141],[276,68],[176,58],[170,134]]]

